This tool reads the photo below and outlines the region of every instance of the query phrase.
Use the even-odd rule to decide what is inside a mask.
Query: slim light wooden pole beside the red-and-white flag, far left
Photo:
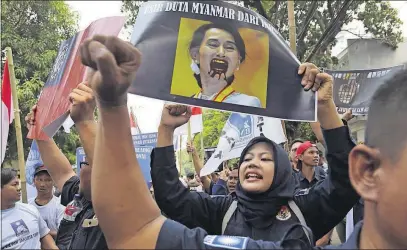
[[[16,129],[16,138],[17,138],[18,168],[20,169],[21,194],[22,194],[21,198],[24,203],[27,203],[27,186],[26,186],[27,182],[25,179],[23,135],[21,133],[20,109],[18,106],[16,77],[14,75],[13,53],[10,47],[6,48],[6,56],[8,62],[8,70],[10,73],[11,94],[13,96],[14,126]]]

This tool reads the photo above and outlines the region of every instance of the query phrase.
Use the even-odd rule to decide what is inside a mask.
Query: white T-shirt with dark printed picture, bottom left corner
[[[1,249],[41,249],[40,239],[49,233],[38,210],[17,202],[1,210]]]

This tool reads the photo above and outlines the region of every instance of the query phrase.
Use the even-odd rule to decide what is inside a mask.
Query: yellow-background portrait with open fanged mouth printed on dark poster
[[[181,18],[171,94],[264,108],[268,45],[258,30]]]

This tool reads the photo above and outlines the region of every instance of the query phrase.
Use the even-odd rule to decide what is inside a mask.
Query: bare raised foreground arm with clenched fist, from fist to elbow
[[[140,53],[117,37],[94,36],[82,44],[81,56],[96,70],[89,83],[99,109],[92,168],[92,202],[99,225],[111,249],[155,248],[165,218],[137,162],[126,105]]]

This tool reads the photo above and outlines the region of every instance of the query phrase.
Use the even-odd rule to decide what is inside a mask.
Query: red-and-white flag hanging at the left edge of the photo
[[[1,89],[1,162],[3,163],[6,154],[8,129],[14,120],[13,101],[11,98],[10,73],[8,62],[4,64],[3,82]]]

